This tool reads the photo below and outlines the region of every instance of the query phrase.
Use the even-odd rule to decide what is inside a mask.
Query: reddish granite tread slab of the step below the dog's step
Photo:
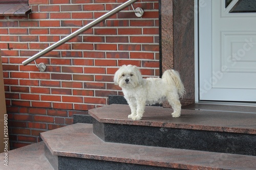
[[[183,169],[256,169],[255,156],[104,142],[92,133],[91,124],[44,132],[41,138],[57,156]]]

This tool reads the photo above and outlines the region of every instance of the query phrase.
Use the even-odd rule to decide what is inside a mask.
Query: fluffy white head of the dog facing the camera
[[[121,88],[133,88],[142,84],[140,70],[135,65],[122,65],[115,73],[114,83]]]

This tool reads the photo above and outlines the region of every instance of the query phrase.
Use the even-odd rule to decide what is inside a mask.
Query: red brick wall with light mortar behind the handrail
[[[11,147],[39,140],[39,133],[72,124],[74,113],[108,104],[122,95],[113,84],[119,66],[133,64],[145,77],[159,76],[158,1],[141,0],[49,54],[47,65],[21,63],[124,0],[29,0],[26,17],[0,16],[0,49]]]

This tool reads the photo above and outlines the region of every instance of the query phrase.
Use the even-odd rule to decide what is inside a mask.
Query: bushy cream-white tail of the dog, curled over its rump
[[[165,79],[168,85],[175,85],[177,87],[180,98],[183,97],[185,94],[185,88],[180,79],[178,71],[175,71],[174,69],[168,69],[164,71],[162,79]]]

